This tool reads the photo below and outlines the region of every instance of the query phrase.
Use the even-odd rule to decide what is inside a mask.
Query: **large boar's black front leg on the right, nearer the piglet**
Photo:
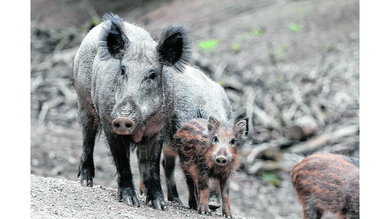
[[[147,187],[146,203],[152,201],[152,207],[157,210],[168,210],[164,199],[163,189],[161,188],[160,178],[160,158],[163,149],[163,138],[160,134],[155,134],[147,143]]]

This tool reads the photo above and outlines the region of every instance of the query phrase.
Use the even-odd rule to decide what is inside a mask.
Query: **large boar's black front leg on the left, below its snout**
[[[118,173],[118,201],[124,201],[128,205],[139,207],[140,202],[134,189],[133,176],[127,155],[129,145],[124,145],[117,134],[105,133]]]

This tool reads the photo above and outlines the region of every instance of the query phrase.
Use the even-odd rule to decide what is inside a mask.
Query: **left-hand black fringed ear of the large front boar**
[[[120,59],[129,48],[129,39],[124,34],[123,20],[116,14],[103,16],[98,46],[100,58],[103,60],[110,57]]]

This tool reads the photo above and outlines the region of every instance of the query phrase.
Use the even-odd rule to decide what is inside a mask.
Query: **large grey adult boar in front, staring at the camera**
[[[81,184],[92,186],[95,137],[103,131],[118,175],[118,200],[140,206],[129,153],[147,150],[147,203],[167,210],[161,189],[161,129],[174,106],[174,74],[183,73],[191,55],[185,26],[170,26],[155,42],[139,26],[105,14],[83,39],[73,63],[78,119],[83,128]]]

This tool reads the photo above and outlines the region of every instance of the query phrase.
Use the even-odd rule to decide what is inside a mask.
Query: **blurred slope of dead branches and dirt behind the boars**
[[[157,40],[168,25],[188,25],[191,64],[225,88],[236,118],[250,118],[252,144],[231,184],[234,215],[301,218],[288,177],[296,162],[316,151],[359,157],[358,0],[32,0],[31,173],[79,180],[71,67],[83,37],[110,11]],[[117,188],[102,142],[94,184]],[[176,181],[188,205],[180,170]]]

